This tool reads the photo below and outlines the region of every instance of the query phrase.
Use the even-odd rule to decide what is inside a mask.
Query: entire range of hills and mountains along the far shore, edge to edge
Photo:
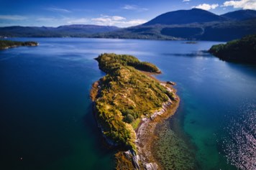
[[[127,28],[67,25],[0,27],[0,37],[93,37],[114,39],[188,39],[230,41],[256,34],[256,11],[213,14],[203,9],[170,11],[142,25]]]

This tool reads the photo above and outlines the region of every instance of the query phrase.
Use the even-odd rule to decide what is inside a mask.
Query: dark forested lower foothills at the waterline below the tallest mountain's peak
[[[230,41],[247,34],[256,34],[256,19],[227,22],[205,22],[173,25],[140,25],[114,32],[93,34],[93,37],[114,39],[186,39]]]

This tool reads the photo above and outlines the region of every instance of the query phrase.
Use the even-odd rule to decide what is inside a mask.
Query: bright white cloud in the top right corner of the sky
[[[255,0],[225,1],[223,6],[233,6],[233,8],[254,9],[256,10]]]

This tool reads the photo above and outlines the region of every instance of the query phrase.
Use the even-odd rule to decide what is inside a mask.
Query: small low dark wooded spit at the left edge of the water
[[[15,42],[11,40],[0,40],[0,49],[9,49],[19,46],[37,46],[38,42]]]

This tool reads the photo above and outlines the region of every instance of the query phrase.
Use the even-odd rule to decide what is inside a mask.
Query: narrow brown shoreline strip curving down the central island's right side
[[[147,72],[145,75],[152,77],[150,72]],[[155,77],[153,78],[157,80]],[[180,98],[176,95],[177,90],[175,90],[173,86],[168,85],[167,82],[157,81],[165,86],[165,88],[175,93],[175,101],[171,101],[169,98],[167,103],[163,103],[160,111],[152,114],[150,118],[142,118],[140,125],[135,131],[137,135],[136,146],[138,148],[138,155],[140,156],[140,161],[144,169],[163,169],[153,152],[154,141],[157,140],[155,128],[159,123],[162,123],[167,118],[174,115],[180,103]]]

